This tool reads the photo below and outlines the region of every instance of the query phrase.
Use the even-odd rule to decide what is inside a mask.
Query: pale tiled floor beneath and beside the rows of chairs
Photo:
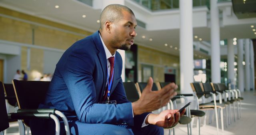
[[[245,91],[241,93],[244,100],[242,101],[242,115],[241,118],[232,120],[232,124],[226,128],[226,121],[224,118],[224,132],[221,131],[220,120],[219,120],[219,135],[255,135],[256,134],[256,93],[255,91]],[[203,119],[202,119],[203,120]],[[202,121],[201,120],[201,121]],[[196,123],[196,119],[194,120]],[[201,122],[202,123],[202,122]],[[10,127],[6,131],[6,135],[19,135],[18,124],[10,123]],[[165,129],[165,135],[168,135],[168,129]],[[178,124],[175,127],[176,135],[187,135],[186,125]],[[194,124],[192,128],[192,135],[198,135],[198,128]],[[216,122],[212,119],[212,124],[208,124],[201,127],[201,135],[217,135]]]

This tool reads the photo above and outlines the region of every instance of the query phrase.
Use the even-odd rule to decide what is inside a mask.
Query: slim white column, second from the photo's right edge
[[[244,44],[244,54],[245,54],[245,90],[250,90],[250,39],[245,39]]]

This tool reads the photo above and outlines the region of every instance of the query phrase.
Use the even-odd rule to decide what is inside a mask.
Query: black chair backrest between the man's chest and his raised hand
[[[137,101],[140,95],[135,87],[134,82],[123,82],[127,99],[131,102]]]

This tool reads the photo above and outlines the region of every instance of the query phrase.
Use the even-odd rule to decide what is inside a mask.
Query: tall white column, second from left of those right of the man
[[[190,1],[190,0],[188,0]],[[220,24],[217,0],[211,0],[211,75],[213,83],[220,83]]]

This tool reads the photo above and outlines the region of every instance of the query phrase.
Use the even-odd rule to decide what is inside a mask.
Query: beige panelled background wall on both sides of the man
[[[7,16],[0,16],[0,40],[32,44],[32,30],[34,30],[35,45],[66,50],[77,40],[92,34],[2,7],[0,7],[0,12]],[[27,47],[21,48],[20,67],[28,73],[29,80],[34,79],[31,71],[43,73],[43,59],[44,50],[31,48],[30,70],[27,70]],[[179,77],[179,68],[177,67],[179,59],[176,56],[138,46],[138,79],[141,78],[141,64],[154,67],[154,81],[164,81],[164,66],[176,68],[176,78]],[[175,64],[176,66],[174,66]],[[177,83],[179,83],[178,81],[176,79]]]

